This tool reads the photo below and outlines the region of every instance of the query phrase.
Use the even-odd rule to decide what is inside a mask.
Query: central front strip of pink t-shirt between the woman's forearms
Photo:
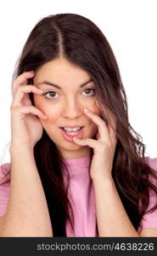
[[[98,236],[93,182],[89,173],[90,157],[67,159],[66,163],[70,174],[68,197],[73,206],[76,236]],[[69,222],[66,225],[66,236],[75,236]]]

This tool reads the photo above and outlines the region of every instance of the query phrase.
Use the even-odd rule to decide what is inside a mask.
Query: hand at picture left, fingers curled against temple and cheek
[[[41,110],[35,108],[29,93],[42,95],[33,84],[27,84],[35,73],[25,72],[14,80],[13,102],[11,104],[11,146],[10,148],[29,146],[34,148],[36,142],[42,137],[42,124],[40,119],[47,119]]]

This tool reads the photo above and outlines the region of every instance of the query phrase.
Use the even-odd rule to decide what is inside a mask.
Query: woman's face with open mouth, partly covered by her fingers
[[[88,73],[59,58],[37,69],[34,84],[43,90],[42,96],[34,94],[35,107],[48,116],[46,120],[40,119],[42,126],[64,159],[89,155],[91,148],[73,142],[74,136],[92,138],[98,131],[83,112],[83,108],[88,108],[100,116],[95,84]],[[68,129],[82,126],[79,131]]]

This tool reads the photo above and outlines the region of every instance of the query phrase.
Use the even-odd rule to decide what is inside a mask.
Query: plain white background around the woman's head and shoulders
[[[36,23],[47,15],[83,15],[104,32],[126,89],[130,123],[157,157],[157,1],[58,0],[0,2],[0,157],[10,142],[11,80],[15,62]],[[9,161],[6,151],[3,162]]]

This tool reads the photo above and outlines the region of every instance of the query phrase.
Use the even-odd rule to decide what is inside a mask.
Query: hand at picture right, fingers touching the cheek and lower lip
[[[88,109],[87,109],[88,110]],[[93,159],[90,168],[90,175],[93,180],[99,178],[112,178],[112,165],[115,155],[115,148],[117,143],[117,138],[115,136],[116,131],[116,120],[115,116],[108,110],[107,119],[109,123],[114,127],[112,129],[111,125],[104,121],[97,114],[91,111],[84,111],[88,118],[92,119],[93,122],[98,125],[98,133],[96,135],[97,140],[92,138],[86,139],[74,139],[75,143],[82,146],[89,146],[93,148]]]

